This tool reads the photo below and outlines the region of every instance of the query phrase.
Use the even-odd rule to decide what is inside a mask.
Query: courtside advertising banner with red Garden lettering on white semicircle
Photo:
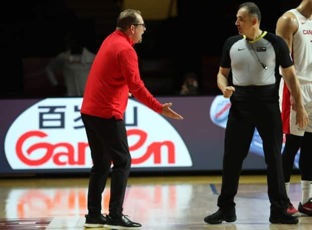
[[[230,102],[216,97],[159,97],[184,120],[173,120],[129,98],[124,114],[131,171],[222,170]],[[81,97],[0,100],[0,174],[79,173],[92,167],[81,119]],[[257,130],[243,169],[266,169]]]

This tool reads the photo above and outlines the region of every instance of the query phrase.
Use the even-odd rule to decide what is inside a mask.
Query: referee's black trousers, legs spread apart
[[[236,91],[239,90],[236,88]],[[217,203],[220,209],[230,210],[236,205],[234,197],[242,164],[249,152],[255,128],[263,141],[271,210],[286,209],[288,198],[281,159],[283,134],[279,105],[277,101],[261,98],[268,99],[259,96],[232,101],[225,130],[222,186]]]

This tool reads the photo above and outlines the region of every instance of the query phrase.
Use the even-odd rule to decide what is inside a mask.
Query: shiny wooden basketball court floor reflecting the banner
[[[109,183],[103,193],[108,211]],[[142,229],[312,229],[312,217],[298,224],[270,224],[266,176],[242,176],[236,196],[237,221],[206,224],[217,210],[220,176],[130,177],[124,214]],[[88,178],[0,178],[0,229],[84,229]],[[291,178],[289,196],[295,207],[301,197],[300,177]],[[104,229],[86,228],[86,229]]]

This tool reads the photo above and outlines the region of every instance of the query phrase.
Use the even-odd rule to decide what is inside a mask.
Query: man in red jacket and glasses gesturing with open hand
[[[137,10],[125,10],[117,19],[116,31],[102,43],[92,64],[81,108],[93,166],[88,190],[86,227],[137,229],[122,213],[127,179],[131,166],[123,113],[129,91],[140,102],[173,119],[183,119],[170,106],[161,104],[140,79],[133,46],[141,43],[146,30]],[[109,215],[101,214],[102,193],[113,162]]]

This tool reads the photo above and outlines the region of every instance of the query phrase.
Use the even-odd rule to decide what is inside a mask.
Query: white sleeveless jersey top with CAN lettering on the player
[[[296,9],[289,12],[296,16],[298,31],[293,35],[292,55],[300,84],[312,82],[312,20],[307,20]]]

